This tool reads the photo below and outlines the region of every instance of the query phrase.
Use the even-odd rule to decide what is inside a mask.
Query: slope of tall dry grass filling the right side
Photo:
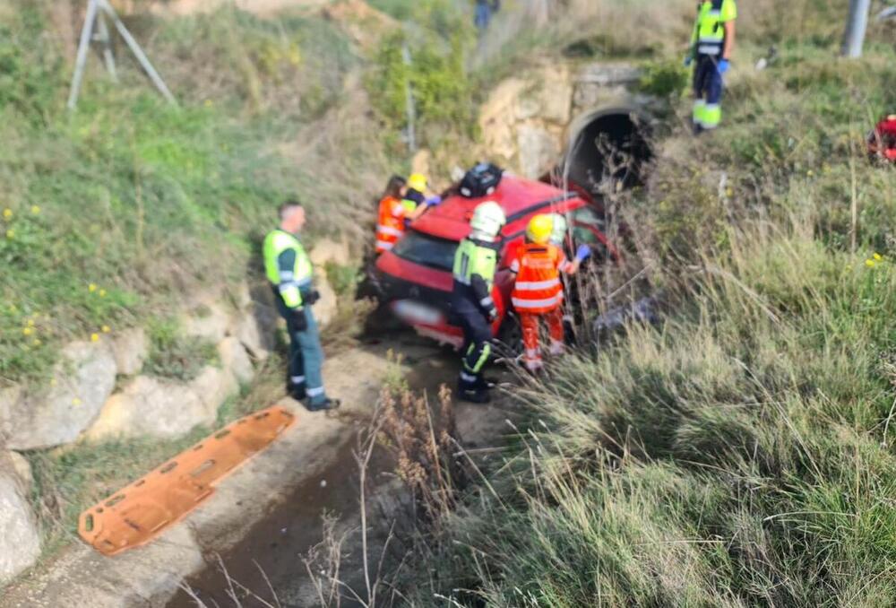
[[[801,6],[745,19],[723,128],[685,135],[682,100],[628,201],[668,316],[517,393],[530,430],[417,605],[896,603],[896,171],[862,152],[896,48],[873,26],[841,60],[845,8]]]

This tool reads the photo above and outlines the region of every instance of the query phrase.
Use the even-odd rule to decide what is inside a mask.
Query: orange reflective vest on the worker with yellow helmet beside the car
[[[554,245],[526,243],[511,263],[516,273],[511,301],[518,312],[540,314],[554,310],[563,301],[560,271],[566,257]]]

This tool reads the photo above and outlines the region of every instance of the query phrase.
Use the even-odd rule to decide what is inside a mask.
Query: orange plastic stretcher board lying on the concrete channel
[[[217,482],[271,445],[294,421],[293,414],[274,406],[229,424],[84,511],[78,534],[105,555],[149,543],[201,505]]]

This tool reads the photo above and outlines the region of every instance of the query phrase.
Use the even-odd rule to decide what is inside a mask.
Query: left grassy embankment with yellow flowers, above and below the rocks
[[[224,8],[168,21],[131,17],[179,107],[161,100],[119,49],[123,83],[109,83],[91,56],[79,108],[69,114],[71,56],[49,25],[52,9],[22,3],[0,12],[0,386],[46,382],[62,344],[126,326],[149,328],[144,373],[190,378],[213,349],[178,334],[183,295],[263,282],[258,247],[285,196],[306,202],[312,240],[371,238],[372,198],[409,160],[394,135],[400,118],[383,106],[371,111],[368,91],[375,95],[381,81],[365,77],[389,73],[394,86],[409,77],[384,63],[396,38],[364,48],[345,23],[317,14],[261,20]],[[414,10],[424,27],[411,48],[416,55],[430,45],[420,51],[428,71],[415,79],[436,108],[440,94],[429,80],[460,69],[462,61],[443,56],[466,48],[448,39],[432,47],[441,39],[433,15],[452,14],[446,5]],[[429,114],[420,115],[424,133],[441,119]],[[355,272],[334,266],[328,274],[350,297]],[[271,358],[220,408],[219,425],[271,403],[280,368]],[[27,454],[45,554],[74,538],[83,508],[208,431]]]

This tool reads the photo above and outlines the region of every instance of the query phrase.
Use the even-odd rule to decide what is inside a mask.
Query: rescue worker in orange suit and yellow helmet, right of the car
[[[511,300],[522,326],[523,360],[526,369],[537,372],[543,367],[538,345],[539,319],[544,317],[551,336],[550,353],[564,352],[563,283],[560,273],[575,274],[591,249],[582,245],[570,262],[562,249],[550,242],[554,219],[545,213],[531,219],[526,241],[511,263],[516,274]]]

